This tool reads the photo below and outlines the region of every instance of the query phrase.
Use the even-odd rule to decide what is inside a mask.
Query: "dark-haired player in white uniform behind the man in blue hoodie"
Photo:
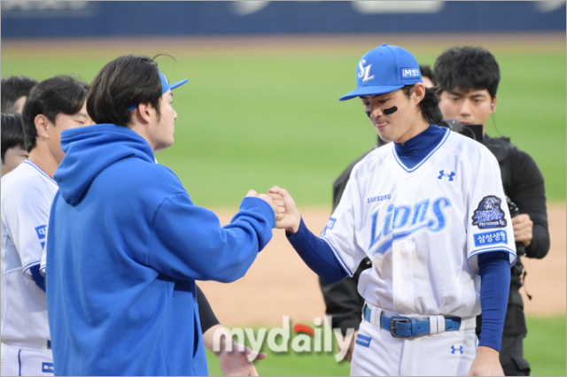
[[[62,130],[89,125],[86,84],[66,76],[32,89],[23,118],[29,158],[2,178],[2,375],[53,375],[39,272]],[[71,112],[67,114],[67,112]]]

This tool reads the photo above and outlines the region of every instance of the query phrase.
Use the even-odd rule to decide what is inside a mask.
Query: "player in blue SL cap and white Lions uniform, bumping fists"
[[[516,261],[501,174],[483,145],[441,128],[439,98],[416,59],[382,45],[357,66],[357,88],[390,144],[355,165],[319,237],[283,188],[270,189],[299,256],[324,281],[352,276],[366,300],[353,375],[503,375],[498,359]],[[483,310],[477,340],[475,316]],[[488,335],[485,335],[485,331]]]

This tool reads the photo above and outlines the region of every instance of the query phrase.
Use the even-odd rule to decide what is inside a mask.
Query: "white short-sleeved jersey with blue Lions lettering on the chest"
[[[370,152],[354,166],[321,237],[350,276],[369,257],[359,293],[406,315],[478,315],[478,254],[506,251],[516,263],[496,158],[448,129],[412,168],[393,142]]]

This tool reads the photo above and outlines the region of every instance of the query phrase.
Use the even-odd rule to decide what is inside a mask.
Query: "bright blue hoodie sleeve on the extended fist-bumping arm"
[[[152,220],[147,265],[178,280],[236,281],[272,238],[276,214],[245,197],[230,224],[193,205],[185,194],[167,196]]]

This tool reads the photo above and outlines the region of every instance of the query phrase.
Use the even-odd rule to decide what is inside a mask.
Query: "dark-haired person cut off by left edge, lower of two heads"
[[[2,113],[2,164],[0,176],[12,172],[27,158],[26,141],[21,115]]]

